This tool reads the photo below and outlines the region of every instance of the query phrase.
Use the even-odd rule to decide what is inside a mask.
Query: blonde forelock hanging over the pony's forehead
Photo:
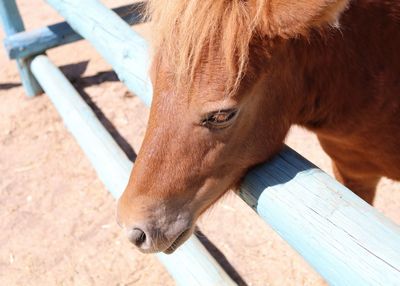
[[[249,44],[262,25],[265,0],[149,0],[153,48],[167,60],[177,90],[190,88],[195,73],[212,74],[216,60],[227,77],[226,91],[234,92],[246,71]],[[219,58],[207,56],[218,51]],[[204,70],[206,68],[206,70]],[[215,73],[215,71],[214,71]]]

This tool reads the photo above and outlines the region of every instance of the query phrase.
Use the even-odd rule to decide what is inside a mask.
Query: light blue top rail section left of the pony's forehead
[[[118,78],[147,105],[153,93],[148,77],[148,43],[97,0],[46,0],[112,66]]]

